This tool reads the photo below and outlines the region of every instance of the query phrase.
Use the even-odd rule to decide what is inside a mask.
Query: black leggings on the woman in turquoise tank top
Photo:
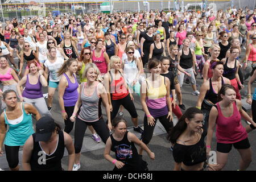
[[[15,168],[19,164],[19,147],[20,146],[7,146],[5,144],[6,159],[10,168]]]

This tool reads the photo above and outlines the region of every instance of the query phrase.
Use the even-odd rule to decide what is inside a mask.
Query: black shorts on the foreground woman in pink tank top
[[[246,138],[236,143],[217,143],[217,151],[222,153],[229,153],[232,149],[232,145],[236,149],[247,149],[251,147],[248,138]]]

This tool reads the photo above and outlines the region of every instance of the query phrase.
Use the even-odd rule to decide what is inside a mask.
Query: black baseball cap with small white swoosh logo
[[[36,122],[35,142],[47,142],[55,128],[56,125],[53,118],[48,116],[40,118]]]

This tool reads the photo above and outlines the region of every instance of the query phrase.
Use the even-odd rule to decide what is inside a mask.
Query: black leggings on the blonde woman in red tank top
[[[123,105],[125,109],[130,113],[132,118],[138,118],[137,111],[135,109],[134,103],[131,100],[130,94],[128,94],[125,98],[119,100],[111,100],[113,111],[111,113],[111,119],[114,119],[117,115],[120,105]]]

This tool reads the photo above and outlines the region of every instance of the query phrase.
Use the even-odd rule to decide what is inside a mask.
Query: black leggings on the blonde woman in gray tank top
[[[75,153],[79,154],[82,148],[82,141],[84,140],[84,134],[87,129],[87,125],[93,126],[93,129],[100,135],[102,141],[106,143],[106,140],[110,137],[108,127],[104,122],[104,119],[101,117],[100,120],[95,122],[85,122],[76,118],[75,125]]]

